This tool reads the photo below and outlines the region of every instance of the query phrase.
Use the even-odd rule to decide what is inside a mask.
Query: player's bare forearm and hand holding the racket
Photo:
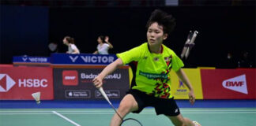
[[[121,58],[118,58],[117,60],[112,62],[110,65],[107,65],[107,67],[102,72],[100,72],[100,74],[98,76],[96,76],[96,78],[94,78],[92,80],[95,87],[97,87],[97,88],[102,87],[102,84],[103,84],[102,81],[104,80],[104,77],[111,74],[112,72],[115,71],[115,69],[118,69],[122,65],[123,65],[123,63],[122,63]]]

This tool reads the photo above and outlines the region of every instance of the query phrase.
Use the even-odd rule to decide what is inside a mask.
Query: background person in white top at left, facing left
[[[66,54],[80,54],[80,51],[78,50],[77,46],[74,44],[74,39],[70,36],[66,36],[63,39],[63,44],[69,47],[69,50],[66,52]]]

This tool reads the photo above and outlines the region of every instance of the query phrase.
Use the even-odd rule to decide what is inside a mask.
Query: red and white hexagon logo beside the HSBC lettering
[[[0,92],[7,92],[15,85],[15,81],[7,74],[0,74]]]

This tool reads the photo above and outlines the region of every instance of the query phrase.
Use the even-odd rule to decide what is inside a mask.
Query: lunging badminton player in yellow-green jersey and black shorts
[[[182,116],[171,95],[171,76],[169,72],[173,70],[190,89],[188,95],[190,103],[194,104],[195,102],[193,87],[181,69],[183,61],[173,50],[163,44],[163,41],[168,38],[168,35],[175,28],[175,18],[156,9],[152,12],[146,27],[148,28],[148,42],[117,54],[119,58],[107,65],[92,82],[96,87],[102,87],[105,76],[114,72],[119,66],[136,61],[134,87],[131,87],[127,95],[122,98],[118,113],[125,117],[130,112],[140,113],[146,106],[152,106],[155,108],[157,115],[164,114],[175,126],[200,126],[196,121],[191,121]],[[110,125],[119,126],[121,121],[115,113]]]

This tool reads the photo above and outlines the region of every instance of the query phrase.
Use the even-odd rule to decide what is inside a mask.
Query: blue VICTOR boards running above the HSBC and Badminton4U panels
[[[115,54],[62,54],[51,57],[14,56],[13,65],[50,66],[50,65],[108,65],[115,61]]]

